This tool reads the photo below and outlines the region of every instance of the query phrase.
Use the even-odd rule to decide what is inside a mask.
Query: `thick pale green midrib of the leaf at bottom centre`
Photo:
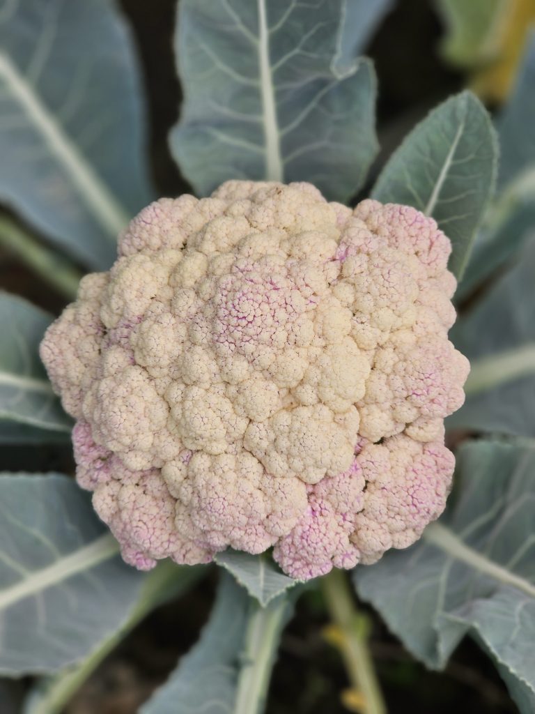
[[[250,603],[233,714],[260,714],[263,711],[273,660],[288,608],[285,595],[272,600],[265,608],[256,601]]]

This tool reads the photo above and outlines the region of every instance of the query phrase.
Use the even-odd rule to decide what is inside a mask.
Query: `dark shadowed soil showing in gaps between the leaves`
[[[180,106],[171,34],[175,0],[121,0],[133,26],[148,94],[153,176],[161,195],[188,190],[170,159],[167,134]],[[442,28],[430,0],[398,0],[367,54],[379,77],[377,107],[382,152],[372,178],[402,136],[427,111],[463,86],[463,78],[439,59]],[[372,179],[370,179],[371,181]],[[0,287],[58,313],[64,301],[23,265],[0,253]],[[70,448],[6,448],[1,469],[73,471]],[[106,659],[67,708],[68,714],[133,714],[190,648],[208,616],[215,572],[176,603],[165,605],[136,628]],[[327,645],[319,595],[307,593],[282,637],[267,714],[342,714],[347,687],[338,653]],[[491,662],[465,641],[445,673],[430,673],[408,655],[374,616],[372,651],[390,714],[508,714],[510,703]],[[19,711],[29,682],[0,684],[1,714]],[[177,712],[180,711],[177,703]]]

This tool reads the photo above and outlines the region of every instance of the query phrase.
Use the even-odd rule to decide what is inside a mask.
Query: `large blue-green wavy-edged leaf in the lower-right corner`
[[[428,667],[443,668],[469,633],[533,700],[535,447],[467,443],[457,479],[451,511],[412,548],[357,566],[357,591]]]

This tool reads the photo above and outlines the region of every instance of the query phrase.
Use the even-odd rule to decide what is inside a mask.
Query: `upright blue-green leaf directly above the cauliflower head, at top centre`
[[[200,195],[229,178],[310,181],[329,199],[357,191],[377,153],[375,77],[362,33],[389,6],[362,0],[181,0],[183,85],[170,135]]]

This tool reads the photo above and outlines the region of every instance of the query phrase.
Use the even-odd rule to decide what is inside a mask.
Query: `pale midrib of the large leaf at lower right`
[[[535,585],[530,583],[529,580],[521,578],[520,575],[510,573],[506,568],[502,568],[501,565],[493,563],[489,558],[469,548],[455,533],[440,523],[432,523],[427,526],[422,538],[427,540],[428,543],[436,545],[437,548],[451,555],[452,558],[461,560],[462,563],[479,570],[480,573],[489,575],[504,585],[512,585],[512,587],[518,588],[526,595],[530,595],[531,598],[535,598]]]

